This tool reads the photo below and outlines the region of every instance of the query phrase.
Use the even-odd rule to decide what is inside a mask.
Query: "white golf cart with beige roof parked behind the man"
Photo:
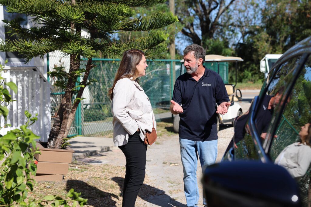
[[[239,105],[239,103],[234,101],[242,101],[242,93],[239,89],[235,89],[236,86],[236,80],[237,80],[237,63],[243,61],[240,57],[225,57],[221,55],[206,55],[205,56],[205,62],[215,62],[217,64],[217,72],[219,74],[219,63],[220,62],[235,62],[235,84],[225,83],[225,87],[228,93],[228,96],[230,98],[231,106],[228,109],[228,113],[225,115],[218,115],[217,116],[217,132],[219,131],[219,125],[220,124],[233,124],[233,120],[236,116],[241,115],[242,108]],[[181,61],[183,62],[183,60]],[[208,67],[207,67],[208,68]],[[182,73],[182,70],[180,70],[180,74]],[[222,75],[220,75],[222,79]],[[174,131],[177,133],[179,128],[179,115],[174,116],[174,122],[173,122],[173,128]]]

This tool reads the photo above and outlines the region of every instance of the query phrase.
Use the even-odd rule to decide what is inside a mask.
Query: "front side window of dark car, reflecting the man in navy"
[[[263,149],[264,140],[268,131],[271,131],[271,122],[274,122],[283,110],[281,98],[283,95],[287,96],[305,60],[306,57],[303,55],[285,56],[270,71],[268,83],[263,85],[259,96],[255,97],[249,109],[248,120],[243,128],[245,130],[243,139],[235,142],[235,160],[261,160],[262,162],[270,160]]]

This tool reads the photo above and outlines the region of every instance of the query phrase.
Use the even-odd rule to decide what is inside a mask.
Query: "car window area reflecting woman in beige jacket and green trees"
[[[284,84],[286,81],[290,81],[290,75],[288,74],[288,78],[284,79]],[[273,138],[269,155],[272,161],[287,169],[292,177],[298,181],[302,201],[307,206],[311,171],[310,56],[300,71],[289,98],[285,100],[285,97],[282,97],[280,103],[286,105],[276,132],[274,136],[271,136]]]

